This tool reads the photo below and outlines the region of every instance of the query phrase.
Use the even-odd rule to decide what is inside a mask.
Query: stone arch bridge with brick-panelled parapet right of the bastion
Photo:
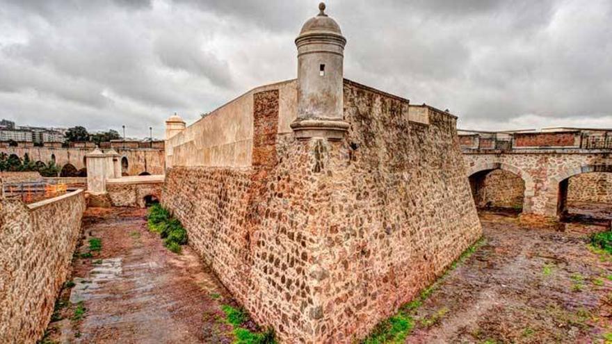
[[[609,135],[610,134],[610,135]],[[459,133],[468,177],[505,170],[524,181],[523,213],[558,218],[570,177],[612,173],[612,132]]]

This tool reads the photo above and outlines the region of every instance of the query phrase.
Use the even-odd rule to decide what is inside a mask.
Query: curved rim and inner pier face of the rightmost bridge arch
[[[556,216],[563,218],[567,210],[567,190],[571,177],[591,172],[612,173],[612,164],[581,165],[561,170],[550,179],[547,189],[547,208],[556,209]]]

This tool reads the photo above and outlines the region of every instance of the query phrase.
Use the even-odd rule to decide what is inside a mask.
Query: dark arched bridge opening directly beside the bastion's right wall
[[[478,210],[521,213],[525,197],[525,181],[507,170],[490,169],[469,176],[474,204]]]

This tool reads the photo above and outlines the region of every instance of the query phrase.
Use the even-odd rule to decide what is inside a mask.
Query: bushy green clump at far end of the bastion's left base
[[[151,206],[147,223],[150,231],[159,233],[166,248],[177,254],[181,253],[181,245],[187,243],[187,231],[179,220],[172,218],[169,211],[159,204]]]

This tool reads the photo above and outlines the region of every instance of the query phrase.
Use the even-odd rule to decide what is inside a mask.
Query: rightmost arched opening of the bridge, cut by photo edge
[[[565,222],[612,220],[612,171],[583,172],[560,181],[557,215]]]

